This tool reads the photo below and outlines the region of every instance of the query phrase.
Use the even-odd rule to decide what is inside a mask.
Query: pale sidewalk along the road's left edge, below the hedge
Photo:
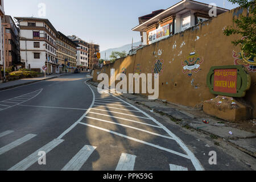
[[[8,82],[0,83],[0,90],[7,90],[10,88],[15,88],[17,86],[28,85],[28,84],[32,84],[32,83],[43,81],[43,80],[50,80],[50,79],[57,78],[60,76],[65,76],[68,74],[71,74],[71,73],[47,75],[46,78],[45,77],[36,77],[36,78],[24,78],[24,79],[20,79],[20,80],[8,81]]]

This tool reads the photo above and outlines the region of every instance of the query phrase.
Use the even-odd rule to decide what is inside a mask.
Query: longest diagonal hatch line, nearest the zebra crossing
[[[135,142],[147,144],[148,146],[155,147],[155,148],[159,148],[160,150],[164,150],[164,151],[170,152],[170,153],[172,153],[172,154],[179,155],[179,156],[181,156],[181,157],[183,157],[183,158],[190,159],[188,155],[181,154],[180,152],[176,152],[176,151],[170,150],[170,149],[168,149],[168,148],[160,147],[160,146],[157,146],[157,145],[155,145],[155,144],[145,142],[145,141],[143,141],[143,140],[139,140],[139,139],[136,139],[136,138],[133,138],[133,137],[129,137],[129,136],[127,136],[127,135],[123,135],[123,134],[117,133],[117,132],[115,132],[115,131],[103,129],[102,127],[98,127],[98,126],[94,126],[94,125],[89,125],[89,124],[81,123],[81,122],[79,122],[79,123],[80,123],[81,125],[85,125],[85,126],[93,127],[93,128],[95,128],[95,129],[98,129],[98,130],[106,131],[106,132],[108,132],[108,133],[112,133],[112,134],[118,135],[118,136],[120,136],[120,137],[133,140],[133,141],[135,141]]]

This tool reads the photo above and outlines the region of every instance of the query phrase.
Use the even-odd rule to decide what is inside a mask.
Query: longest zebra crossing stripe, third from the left
[[[27,168],[29,168],[30,166],[32,166],[34,163],[36,163],[38,161],[38,158],[39,158],[38,152],[39,151],[44,151],[47,154],[49,151],[51,151],[53,148],[57,147],[63,141],[64,141],[63,139],[52,140],[52,142],[47,143],[45,146],[43,146],[39,150],[35,151],[30,156],[27,156],[27,158],[23,159],[18,164],[11,167],[10,169],[8,169],[8,171],[25,171]]]

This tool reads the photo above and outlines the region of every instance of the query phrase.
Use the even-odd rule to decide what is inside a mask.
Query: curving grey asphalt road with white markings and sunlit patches
[[[0,170],[243,169],[223,152],[221,166],[209,166],[209,156],[180,139],[196,138],[177,137],[177,128],[86,80],[72,74],[0,92]],[[38,164],[39,151],[46,165]]]

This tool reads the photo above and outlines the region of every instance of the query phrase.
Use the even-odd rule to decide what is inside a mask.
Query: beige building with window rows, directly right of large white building
[[[79,47],[71,39],[59,32],[57,35],[57,59],[60,65],[60,72],[71,73],[76,69],[76,49]]]

